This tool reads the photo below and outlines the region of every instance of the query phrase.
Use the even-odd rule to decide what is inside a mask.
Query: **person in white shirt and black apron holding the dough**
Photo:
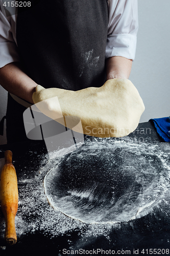
[[[16,7],[11,16],[3,3],[0,84],[9,92],[8,143],[27,139],[23,112],[34,103],[37,84],[77,91],[129,78],[138,30],[136,0],[31,1],[31,8]]]

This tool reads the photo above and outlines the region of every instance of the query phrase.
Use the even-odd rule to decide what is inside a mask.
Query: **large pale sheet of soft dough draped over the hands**
[[[81,132],[76,126],[81,120],[84,134],[101,138],[123,137],[133,132],[144,111],[143,101],[128,79],[110,79],[100,88],[80,91],[44,89],[38,85],[33,101],[43,101],[43,106],[37,104],[40,111],[68,128]]]

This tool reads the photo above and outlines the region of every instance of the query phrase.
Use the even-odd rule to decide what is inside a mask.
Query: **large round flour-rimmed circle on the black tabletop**
[[[48,202],[86,223],[140,218],[157,205],[168,184],[162,159],[145,144],[91,143],[68,153],[44,178]]]

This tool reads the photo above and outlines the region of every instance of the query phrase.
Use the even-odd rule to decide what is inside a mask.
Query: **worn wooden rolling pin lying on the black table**
[[[5,152],[5,165],[1,173],[1,208],[5,217],[5,240],[7,244],[16,243],[15,216],[18,209],[18,186],[12,152]]]

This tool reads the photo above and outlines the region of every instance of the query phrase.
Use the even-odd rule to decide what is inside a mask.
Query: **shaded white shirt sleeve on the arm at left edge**
[[[0,1],[0,68],[8,63],[19,61],[16,40],[13,37],[15,26],[13,17],[6,17]]]

